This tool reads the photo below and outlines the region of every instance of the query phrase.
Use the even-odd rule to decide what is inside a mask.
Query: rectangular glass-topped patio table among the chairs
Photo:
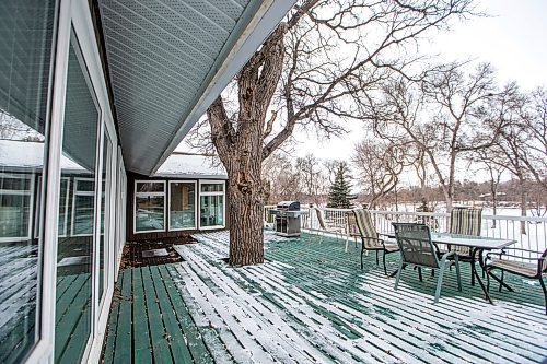
[[[391,238],[395,238],[395,233],[380,233],[380,235],[388,236]],[[494,237],[485,237],[485,236],[475,236],[475,235],[461,235],[461,234],[450,234],[450,233],[431,233],[431,242],[434,244],[445,244],[450,246],[465,246],[472,249],[472,257],[474,260],[478,260],[481,269],[485,267],[485,261],[482,259],[482,253],[485,250],[494,250],[502,249],[510,245],[516,243],[516,240],[512,239],[501,239]],[[475,259],[478,258],[478,259]],[[488,290],[485,286],[485,283],[480,279],[477,270],[475,269],[475,265],[472,265],[472,274],[475,275],[475,279],[479,282],[482,292],[485,293],[485,298],[488,300],[489,303],[493,304],[490,295],[488,294]],[[510,286],[502,283],[497,277],[494,279],[503,284],[508,290],[512,291]]]

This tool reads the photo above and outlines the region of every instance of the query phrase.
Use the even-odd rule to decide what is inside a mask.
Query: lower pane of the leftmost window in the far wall
[[[136,197],[136,221],[137,232],[164,230],[164,207],[163,196]]]

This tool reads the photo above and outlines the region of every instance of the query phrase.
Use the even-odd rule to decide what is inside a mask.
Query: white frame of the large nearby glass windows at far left
[[[58,209],[59,209],[59,183],[60,183],[60,165],[62,157],[62,130],[65,122],[65,103],[66,103],[66,92],[67,92],[67,75],[68,75],[68,56],[70,49],[70,38],[72,28],[78,36],[78,43],[81,48],[82,56],[84,58],[84,63],[86,66],[90,81],[95,91],[96,102],[101,106],[101,120],[98,127],[98,136],[101,136],[102,130],[107,129],[109,133],[110,141],[117,140],[116,129],[114,126],[114,118],[112,115],[109,97],[106,87],[106,81],[104,77],[104,70],[102,66],[102,60],[100,57],[98,47],[96,44],[96,34],[94,23],[90,12],[90,5],[88,0],[58,0],[59,8],[57,13],[58,26],[55,32],[57,37],[56,50],[55,50],[55,71],[53,74],[53,96],[51,96],[51,108],[49,114],[50,127],[49,127],[49,150],[46,153],[47,156],[47,174],[45,175],[46,186],[48,193],[43,193],[42,199],[44,201],[45,219],[44,219],[44,243],[43,251],[47,254],[43,255],[43,277],[42,277],[42,295],[38,297],[40,302],[39,314],[37,315],[37,321],[40,322],[40,338],[37,345],[30,353],[26,359],[28,363],[53,363],[54,362],[54,341],[56,334],[56,279],[57,279],[57,245],[58,245]],[[100,137],[101,138],[101,137]],[[97,143],[102,139],[97,139]],[[102,151],[102,149],[100,149]],[[98,154],[98,153],[97,153]],[[101,155],[101,154],[100,154]],[[100,160],[97,160],[97,163]],[[97,169],[101,171],[101,169]],[[95,184],[95,189],[98,184]],[[72,185],[72,188],[74,186]],[[95,207],[100,204],[101,190],[95,195]],[[97,225],[97,214],[100,210],[95,208],[94,218],[94,232],[98,232]],[[110,223],[109,228],[114,227],[114,223]],[[100,216],[98,216],[100,219]],[[105,231],[106,236],[106,231]],[[112,235],[110,235],[112,236]],[[112,238],[108,239],[108,249],[112,248]],[[101,357],[101,349],[104,341],[104,336],[106,332],[106,324],[108,319],[108,308],[110,306],[112,296],[114,292],[114,269],[110,269],[112,261],[108,261],[108,285],[105,287],[105,302],[103,303],[104,310],[100,310],[100,303],[97,300],[97,284],[96,280],[98,277],[98,270],[96,269],[97,244],[94,239],[93,251],[94,251],[94,268],[93,268],[93,293],[92,293],[92,319],[91,319],[91,332],[88,339],[82,338],[82,340],[88,340],[85,342],[85,350],[83,352],[82,363],[90,362],[96,363]],[[112,255],[109,260],[112,260]],[[105,263],[105,269],[106,269]]]

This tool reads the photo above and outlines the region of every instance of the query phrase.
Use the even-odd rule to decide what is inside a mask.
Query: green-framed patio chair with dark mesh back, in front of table
[[[457,290],[462,291],[462,280],[459,278],[459,261],[455,251],[446,251],[439,260],[438,247],[431,242],[431,231],[424,224],[411,223],[393,223],[395,228],[395,237],[400,248],[400,261],[397,270],[397,279],[395,280],[395,290],[399,285],[400,272],[406,265],[414,265],[418,267],[418,274],[421,278],[421,268],[439,269],[439,277],[437,278],[437,291],[434,302],[439,302],[441,296],[441,286],[443,282],[444,271],[447,267],[456,266],[457,275]],[[453,257],[453,260],[449,260]]]

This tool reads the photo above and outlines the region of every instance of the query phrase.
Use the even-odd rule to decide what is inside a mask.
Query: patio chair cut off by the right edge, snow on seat
[[[519,254],[520,253],[520,254]],[[534,255],[535,257],[524,257],[525,255]],[[498,256],[498,258],[492,258]],[[517,259],[511,259],[517,258]],[[547,249],[534,251],[521,248],[503,248],[500,253],[491,251],[486,255],[486,278],[487,290],[490,290],[490,277],[500,283],[499,291],[505,286],[509,291],[513,291],[509,285],[503,283],[504,272],[525,277],[527,279],[539,280],[539,284],[544,291],[545,315],[547,315],[547,289],[545,287],[544,274],[547,274]],[[492,273],[493,270],[501,270],[501,279]]]

